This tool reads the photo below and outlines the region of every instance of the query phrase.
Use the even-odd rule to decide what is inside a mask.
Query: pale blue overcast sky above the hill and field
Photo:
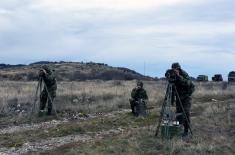
[[[235,70],[234,0],[0,0],[0,62],[94,61],[163,76]]]

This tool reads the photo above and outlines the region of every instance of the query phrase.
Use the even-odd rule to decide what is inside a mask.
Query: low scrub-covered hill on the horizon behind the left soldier
[[[83,62],[48,62],[41,61],[29,65],[0,64],[0,79],[13,81],[37,80],[38,70],[41,65],[48,64],[55,70],[59,81],[84,81],[84,80],[153,80],[123,67],[111,67],[103,63]]]

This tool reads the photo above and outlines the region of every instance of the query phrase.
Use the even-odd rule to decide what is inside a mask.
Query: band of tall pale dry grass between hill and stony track
[[[149,106],[161,105],[166,83],[144,83],[149,95]],[[99,113],[129,108],[130,93],[135,84],[135,81],[60,82],[55,105],[58,112]],[[1,115],[29,112],[34,101],[36,85],[36,82],[0,82]],[[225,100],[235,96],[233,85],[204,83],[196,86],[194,102]]]

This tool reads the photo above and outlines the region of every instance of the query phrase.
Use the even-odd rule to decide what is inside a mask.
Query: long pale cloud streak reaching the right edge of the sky
[[[146,26],[136,29],[128,30],[129,33],[135,34],[153,34],[153,33],[167,33],[181,35],[185,38],[188,36],[217,36],[221,34],[235,33],[235,21],[234,22],[190,22],[190,23],[176,23],[174,27],[172,25],[155,25]]]

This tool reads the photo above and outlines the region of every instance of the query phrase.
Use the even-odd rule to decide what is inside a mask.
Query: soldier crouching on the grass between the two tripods
[[[138,81],[137,82],[137,87],[134,88],[131,92],[131,99],[130,99],[130,105],[131,105],[131,110],[132,113],[135,116],[138,116],[138,112],[137,112],[137,102],[139,102],[139,100],[143,100],[143,102],[146,103],[146,100],[148,100],[148,95],[146,93],[146,91],[143,88],[143,82],[142,81]]]

